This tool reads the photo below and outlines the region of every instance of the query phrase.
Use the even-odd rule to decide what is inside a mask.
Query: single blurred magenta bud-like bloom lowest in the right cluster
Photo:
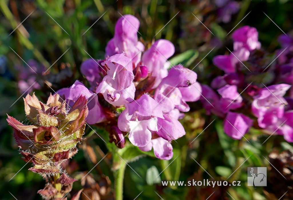
[[[252,126],[253,120],[241,113],[228,112],[224,120],[224,132],[235,140],[240,140]]]

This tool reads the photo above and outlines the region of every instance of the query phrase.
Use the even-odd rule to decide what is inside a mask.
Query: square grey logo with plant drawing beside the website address
[[[247,185],[267,186],[267,168],[266,167],[248,167],[247,168]]]

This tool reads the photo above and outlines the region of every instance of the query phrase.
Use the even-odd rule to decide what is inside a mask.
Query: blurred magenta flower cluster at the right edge
[[[205,98],[201,98],[201,101],[207,114],[214,113],[225,118],[224,131],[234,139],[241,139],[248,132],[253,120],[246,115],[252,114],[257,117],[260,128],[284,135],[285,140],[293,142],[293,110],[288,106],[292,100],[290,97],[284,98],[291,85],[282,83],[285,80],[292,84],[290,77],[293,68],[288,67],[292,62],[289,60],[292,52],[288,49],[282,57],[280,54],[286,47],[292,46],[293,40],[280,36],[282,49],[277,51],[280,58],[277,64],[268,69],[265,53],[258,51],[260,42],[255,28],[241,27],[234,31],[232,39],[234,51],[213,59],[214,65],[225,72],[224,76],[217,76],[211,83],[219,95],[211,87],[202,86]],[[270,86],[267,87],[263,82],[271,76],[276,76],[276,79],[268,82]],[[239,88],[242,91],[240,94]]]

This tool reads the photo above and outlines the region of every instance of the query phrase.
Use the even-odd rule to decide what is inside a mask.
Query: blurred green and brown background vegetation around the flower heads
[[[231,30],[243,25],[255,27],[262,49],[270,57],[280,48],[277,37],[283,31],[292,31],[292,10],[293,1],[288,0],[1,0],[0,199],[41,199],[37,191],[45,185],[41,176],[28,171],[31,163],[19,158],[6,113],[23,121],[22,97],[26,94],[35,92],[41,101],[46,101],[50,93],[71,86],[76,79],[88,85],[80,73],[81,62],[91,57],[104,59],[105,46],[121,15],[132,14],[139,19],[138,36],[144,45],[160,38],[170,40],[176,48],[170,62],[194,68],[198,82],[209,84],[223,73],[212,64],[212,58],[227,52],[226,47],[233,48]],[[182,53],[185,56],[178,56]],[[127,160],[141,178],[126,167],[124,199],[261,200],[279,199],[286,191],[282,198],[293,199],[293,147],[282,136],[272,136],[262,145],[268,135],[251,128],[246,136],[250,143],[244,139],[234,141],[224,134],[223,120],[205,115],[200,102],[190,103],[190,108],[181,120],[186,136],[172,142],[173,159],[137,154]],[[109,141],[103,127],[93,129]],[[113,173],[119,163],[108,154],[96,165],[108,149],[89,127],[84,138],[78,145],[78,154],[64,168],[79,180],[93,170],[74,183],[68,197],[84,188],[90,199],[114,199]],[[127,153],[127,149],[124,151]],[[278,171],[289,169],[288,176],[284,179],[268,161]],[[267,187],[247,186],[247,167],[253,166],[268,167]],[[211,179],[208,173],[215,180],[239,180],[241,186],[161,184],[161,180]],[[81,199],[88,198],[82,194]]]

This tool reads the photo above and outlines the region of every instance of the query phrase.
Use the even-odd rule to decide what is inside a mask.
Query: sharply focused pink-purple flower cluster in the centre
[[[130,142],[142,151],[153,148],[157,158],[171,159],[171,141],[185,135],[180,111],[189,111],[186,102],[197,101],[202,89],[197,74],[182,65],[168,71],[167,59],[175,52],[170,41],[160,39],[145,50],[138,28],[136,17],[120,17],[106,59],[88,59],[81,65],[90,88],[76,81],[57,93],[68,105],[81,95],[88,99],[87,123],[109,124],[110,141],[119,148],[129,133]]]

